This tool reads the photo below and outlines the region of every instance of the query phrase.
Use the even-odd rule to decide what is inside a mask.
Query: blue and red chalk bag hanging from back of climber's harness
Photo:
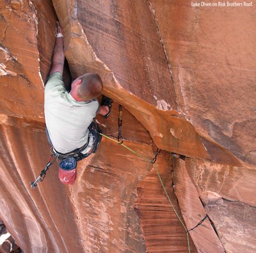
[[[74,157],[65,158],[60,162],[59,179],[61,183],[72,185],[76,180],[77,162]]]

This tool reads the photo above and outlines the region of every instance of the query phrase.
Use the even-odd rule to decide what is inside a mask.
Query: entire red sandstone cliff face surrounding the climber
[[[174,180],[188,229],[205,213],[211,218],[218,236],[205,220],[190,232],[191,251],[252,252],[253,9],[195,10],[185,1],[154,0],[53,4],[72,78],[100,73],[104,94],[124,105],[125,143],[148,158],[154,143],[166,150],[157,167],[177,207]],[[49,155],[42,80],[51,65],[56,15],[50,1],[0,6],[0,217],[15,241],[25,252],[186,252],[186,233],[152,164],[111,141],[103,139],[95,155],[79,162],[74,186],[58,182],[55,164],[31,190],[29,181]],[[67,68],[64,77],[68,87]],[[113,137],[118,104],[110,118],[97,118]]]

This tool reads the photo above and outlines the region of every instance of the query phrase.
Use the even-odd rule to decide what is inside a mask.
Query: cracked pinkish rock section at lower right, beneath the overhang
[[[190,233],[196,248],[201,252],[255,251],[255,170],[189,158],[175,158],[173,169],[175,194],[187,227],[208,215]],[[209,218],[223,247],[216,240]]]

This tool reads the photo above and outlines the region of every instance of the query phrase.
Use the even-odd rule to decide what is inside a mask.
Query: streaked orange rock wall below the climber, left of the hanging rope
[[[134,142],[140,139],[138,135],[125,144],[145,157],[154,157],[152,144]],[[45,181],[32,190],[29,181],[38,175],[49,155],[44,125],[6,117],[1,124],[1,140],[0,213],[25,252],[186,250],[184,228],[149,162],[103,139],[97,154],[79,163],[74,186],[58,182],[55,164]],[[157,167],[166,185],[172,180],[169,165],[168,153],[159,155]],[[151,195],[150,188],[155,189]],[[140,197],[135,202],[137,191]],[[175,201],[172,190],[168,192]],[[149,202],[156,207],[156,214],[148,213]],[[157,231],[156,236],[150,236],[148,225]],[[158,246],[154,240],[159,241]]]

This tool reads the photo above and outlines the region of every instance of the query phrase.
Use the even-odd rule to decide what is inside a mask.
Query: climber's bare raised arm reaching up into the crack
[[[63,74],[63,66],[65,61],[65,55],[63,50],[63,35],[60,27],[60,23],[57,21],[57,38],[53,49],[52,55],[52,67],[50,75],[54,72],[60,72]]]

